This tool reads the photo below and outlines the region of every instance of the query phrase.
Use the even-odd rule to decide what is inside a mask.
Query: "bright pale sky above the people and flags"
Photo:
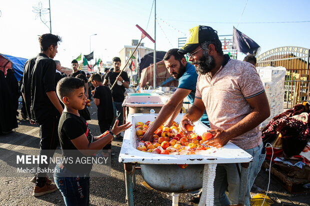
[[[31,58],[39,52],[37,35],[48,33],[49,29],[32,12],[38,2],[0,0],[0,53]],[[48,0],[41,2],[43,8],[48,8]],[[123,45],[140,38],[135,24],[153,37],[154,7],[147,26],[152,2],[50,0],[52,33],[62,37],[54,59],[70,67],[72,57],[89,53],[89,36],[97,34],[90,37],[91,50],[103,62],[110,61]],[[232,34],[235,26],[261,46],[261,53],[280,46],[310,48],[310,22],[253,23],[310,21],[309,7],[309,0],[156,0],[156,50],[176,48],[177,38],[185,37],[187,30],[196,25],[211,26],[219,35]],[[44,16],[49,21],[48,14]],[[146,47],[154,46],[147,38],[142,42]]]

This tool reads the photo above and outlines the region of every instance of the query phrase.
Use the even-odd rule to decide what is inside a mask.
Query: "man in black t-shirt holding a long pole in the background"
[[[112,59],[113,61],[113,68],[114,71],[110,71],[106,74],[104,78],[103,85],[109,85],[111,87],[116,80],[116,77],[118,76],[120,72],[120,58],[119,57],[114,57]],[[127,72],[123,71],[121,75],[117,78],[116,84],[114,85],[113,89],[111,90],[112,92],[112,97],[113,97],[113,105],[116,108],[118,114],[118,125],[123,124],[123,118],[122,118],[122,107],[121,104],[124,101],[124,92],[125,88],[129,88],[129,78],[127,75]]]

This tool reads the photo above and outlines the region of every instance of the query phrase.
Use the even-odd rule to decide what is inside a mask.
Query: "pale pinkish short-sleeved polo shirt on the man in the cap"
[[[203,101],[210,128],[226,130],[250,113],[246,99],[263,92],[252,64],[229,59],[212,78],[208,73],[198,75],[195,98]],[[230,141],[241,149],[251,149],[261,143],[261,132],[257,126]]]

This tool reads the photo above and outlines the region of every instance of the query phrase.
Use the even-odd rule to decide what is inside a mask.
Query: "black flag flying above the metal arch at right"
[[[233,27],[232,48],[245,54],[249,53],[256,55],[260,49],[260,46],[247,35]]]

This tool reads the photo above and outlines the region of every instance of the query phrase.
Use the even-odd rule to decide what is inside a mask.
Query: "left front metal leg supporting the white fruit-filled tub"
[[[124,173],[126,187],[126,206],[133,206],[132,163],[124,163]]]

